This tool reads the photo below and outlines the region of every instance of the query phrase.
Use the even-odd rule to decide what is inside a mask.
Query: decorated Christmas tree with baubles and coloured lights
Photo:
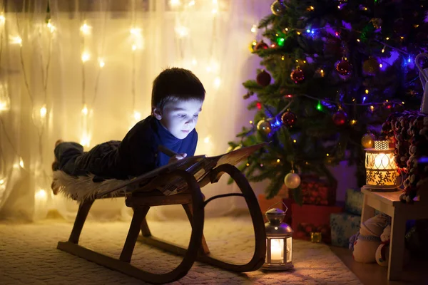
[[[419,108],[414,58],[428,48],[427,8],[415,0],[272,3],[251,43],[263,69],[243,83],[255,117],[229,142],[230,150],[270,142],[240,166],[250,181],[270,180],[267,198],[285,183],[298,202],[297,172],[332,181],[327,166],[343,160],[364,184],[364,147],[378,127]]]

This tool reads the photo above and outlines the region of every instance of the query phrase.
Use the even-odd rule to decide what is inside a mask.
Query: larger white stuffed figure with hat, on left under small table
[[[355,261],[376,262],[376,251],[381,244],[380,236],[389,224],[389,219],[389,216],[381,213],[361,223],[360,231],[350,237],[350,249]]]

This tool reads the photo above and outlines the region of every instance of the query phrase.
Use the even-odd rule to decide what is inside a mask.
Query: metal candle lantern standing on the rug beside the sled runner
[[[282,222],[286,212],[287,206],[285,206],[285,211],[272,208],[265,213],[269,222],[265,224],[266,259],[263,269],[287,270],[294,267],[292,264],[292,229],[288,224]]]

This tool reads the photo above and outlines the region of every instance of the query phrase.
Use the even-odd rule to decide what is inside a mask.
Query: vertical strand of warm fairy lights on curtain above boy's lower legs
[[[77,3],[77,11],[78,9],[78,1]],[[91,53],[89,53],[87,47],[86,47],[86,37],[91,35],[92,27],[87,24],[86,21],[86,14],[81,13],[81,61],[82,61],[82,109],[81,109],[81,140],[80,144],[83,145],[83,147],[90,147],[91,145],[91,131],[89,130],[89,118],[88,115],[90,111],[88,110],[88,105],[86,105],[86,63],[91,59]]]

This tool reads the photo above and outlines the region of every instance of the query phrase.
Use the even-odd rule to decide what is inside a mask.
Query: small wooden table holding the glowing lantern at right
[[[425,184],[421,192],[428,190]],[[407,219],[428,219],[428,197],[406,204],[399,201],[401,190],[396,192],[374,192],[363,188],[361,222],[374,217],[374,209],[389,215],[391,224],[391,241],[389,244],[388,280],[398,280],[402,274],[404,257],[404,234]],[[422,194],[421,194],[422,195]]]

